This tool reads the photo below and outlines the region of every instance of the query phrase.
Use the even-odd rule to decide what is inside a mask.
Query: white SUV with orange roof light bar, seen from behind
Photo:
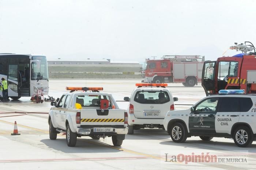
[[[129,101],[128,107],[128,134],[140,128],[162,128],[163,119],[168,111],[174,110],[174,101],[167,84],[136,84],[131,98],[124,97]]]

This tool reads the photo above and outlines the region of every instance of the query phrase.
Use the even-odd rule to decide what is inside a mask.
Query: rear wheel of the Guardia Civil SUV
[[[239,147],[246,147],[252,144],[251,130],[246,126],[236,128],[233,134],[234,142]]]

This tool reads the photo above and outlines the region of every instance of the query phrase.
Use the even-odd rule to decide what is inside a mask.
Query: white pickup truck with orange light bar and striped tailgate
[[[66,88],[71,90],[52,101],[49,112],[49,137],[57,138],[66,133],[68,146],[76,145],[76,138],[90,136],[93,139],[112,136],[114,146],[121,146],[128,132],[128,115],[119,109],[111,94],[100,93],[103,88]],[[83,90],[77,92],[77,90]],[[87,92],[90,91],[90,92]]]

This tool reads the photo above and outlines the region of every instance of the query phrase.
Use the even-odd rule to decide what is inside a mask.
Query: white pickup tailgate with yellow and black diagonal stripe
[[[124,125],[124,109],[82,109],[81,125]]]

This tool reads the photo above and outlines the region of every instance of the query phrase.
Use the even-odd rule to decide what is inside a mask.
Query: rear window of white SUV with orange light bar
[[[163,91],[139,91],[135,94],[134,101],[142,104],[163,104],[170,101],[167,92]]]

